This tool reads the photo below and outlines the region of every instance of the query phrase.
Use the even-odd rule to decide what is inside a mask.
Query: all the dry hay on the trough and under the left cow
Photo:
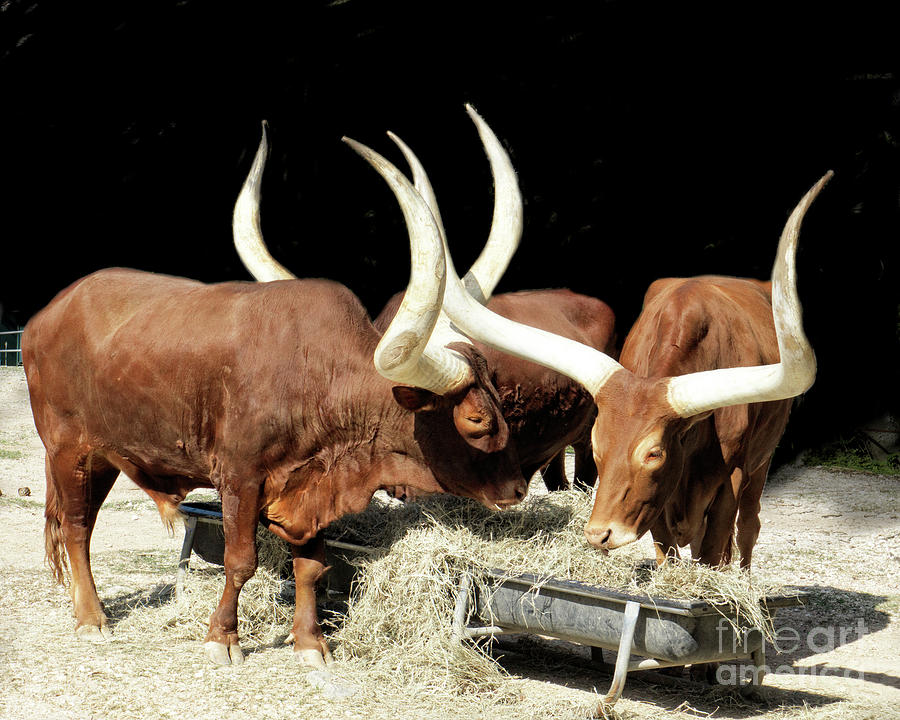
[[[460,574],[471,573],[474,597],[476,590],[490,591],[480,571],[497,569],[510,576],[528,573],[651,597],[723,603],[740,610],[742,625],[771,632],[760,599],[776,588],[753,584],[736,568],[712,570],[690,561],[651,570],[646,550],[637,544],[604,556],[582,533],[590,510],[590,497],[580,491],[532,495],[503,512],[449,495],[406,505],[376,496],[364,512],[327,530],[329,538],[378,549],[359,561],[346,611],[323,613],[335,657],[371,688],[396,688],[435,701],[454,696],[518,703],[520,681],[494,659],[488,641],[460,642],[451,633]],[[287,546],[268,531],[257,538],[259,569],[239,603],[248,649],[280,643],[293,618]],[[221,568],[203,567],[201,561],[197,569],[197,561],[192,563],[180,603],[149,603],[124,618],[117,632],[139,637],[165,627],[179,639],[205,637],[224,576]],[[134,623],[140,627],[130,627]]]

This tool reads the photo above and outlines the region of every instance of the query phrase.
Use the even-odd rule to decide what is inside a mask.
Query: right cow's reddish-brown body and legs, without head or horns
[[[664,378],[778,358],[772,283],[703,276],[650,286],[620,362],[637,377]],[[674,472],[675,487],[651,527],[659,562],[691,544],[701,560],[729,563],[737,516],[741,566],[750,566],[759,499],[792,403],[787,398],[730,405],[691,418],[680,438],[683,469]],[[611,431],[616,421],[607,415],[598,431]],[[615,492],[604,498],[621,502]]]

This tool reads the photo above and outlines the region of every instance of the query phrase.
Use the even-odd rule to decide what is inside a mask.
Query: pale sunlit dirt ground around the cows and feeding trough
[[[610,681],[586,648],[524,637],[500,649],[521,678],[520,702],[500,708],[414,689],[335,697],[275,644],[248,648],[242,666],[214,668],[200,642],[166,638],[164,628],[142,635],[124,622],[168,601],[183,532],[168,537],[155,506],[124,477],[92,543],[101,599],[121,625],[111,642],[79,640],[68,595],[44,565],[43,446],[21,368],[0,368],[0,491],[4,720],[583,717]],[[900,480],[785,466],[769,479],[762,521],[754,573],[806,588],[809,601],[779,613],[779,647],[767,650],[759,697],[634,673],[616,706],[621,717],[900,718]]]

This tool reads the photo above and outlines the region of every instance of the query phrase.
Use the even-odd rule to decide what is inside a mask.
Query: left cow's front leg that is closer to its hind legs
[[[256,495],[222,492],[222,525],[225,531],[225,589],[209,618],[204,649],[216,665],[244,661],[238,638],[237,603],[241,588],[256,572]]]

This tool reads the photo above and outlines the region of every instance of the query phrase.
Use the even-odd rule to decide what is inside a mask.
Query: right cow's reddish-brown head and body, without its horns
[[[654,282],[622,348],[619,373],[601,390],[594,429],[600,466],[585,532],[609,547],[651,530],[658,559],[690,543],[700,560],[731,560],[737,517],[742,567],[759,534],[759,498],[791,399],[674,415],[660,380],[779,361],[771,283],[731,277]],[[593,537],[594,528],[606,537]],[[596,532],[594,533],[596,535]]]

